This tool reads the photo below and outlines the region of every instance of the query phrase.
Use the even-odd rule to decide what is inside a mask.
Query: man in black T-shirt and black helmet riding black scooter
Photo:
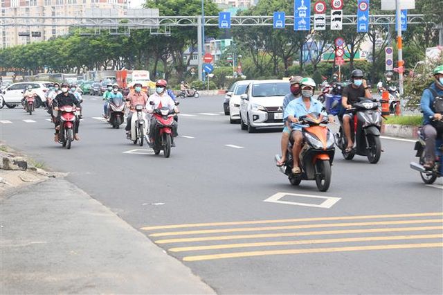
[[[343,89],[341,103],[345,109],[352,108],[355,102],[359,102],[360,97],[371,98],[372,95],[369,91],[368,84],[366,80],[363,79],[363,71],[355,69],[351,73],[352,83],[347,84]],[[345,152],[350,152],[354,143],[351,137],[351,122],[354,118],[354,114],[344,114],[343,115],[343,129],[345,131],[345,136],[347,139],[347,147]]]

